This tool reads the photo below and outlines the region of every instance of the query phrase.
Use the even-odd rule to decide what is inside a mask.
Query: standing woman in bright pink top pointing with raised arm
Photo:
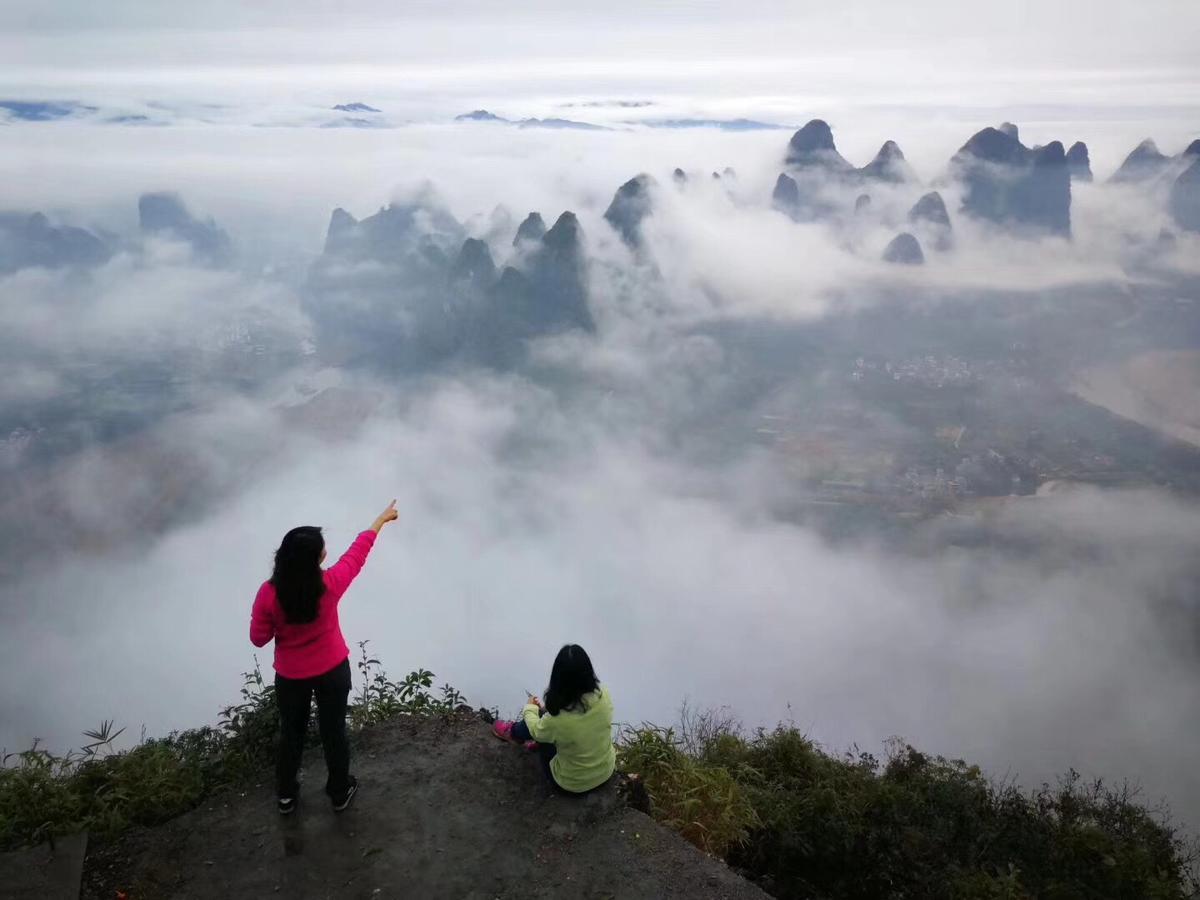
[[[275,640],[275,698],[280,704],[275,788],[283,815],[295,809],[300,793],[296,773],[314,695],[320,743],[329,769],[325,793],[334,803],[334,811],[341,812],[349,806],[358,791],[346,739],[350,648],[342,637],[337,606],[366,563],[376,536],[396,516],[396,502],[392,500],[329,569],[320,568],[325,562],[325,539],[320,528],[293,528],[275,551],[275,571],[254,598],[250,640],[256,647],[265,647]]]

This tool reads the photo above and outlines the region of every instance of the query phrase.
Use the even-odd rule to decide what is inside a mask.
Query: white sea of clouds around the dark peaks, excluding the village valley
[[[671,721],[688,700],[727,706],[750,727],[793,721],[839,749],[899,734],[1026,784],[1069,767],[1130,778],[1194,821],[1200,508],[1148,490],[1014,499],[991,527],[1058,548],[1031,558],[936,540],[924,553],[830,542],[781,515],[794,491],[788,461],[726,425],[731,397],[752,397],[754,385],[703,328],[818,320],[905,292],[1036,298],[1121,284],[1130,254],[1165,223],[1162,198],[1076,187],[1070,242],[1004,238],[956,217],[953,257],[896,272],[878,262],[890,229],[802,226],[769,208],[787,131],[636,124],[653,114],[799,125],[824,114],[856,164],[890,138],[934,181],[973,131],[1010,118],[1030,144],[1088,142],[1104,178],[1148,134],[1182,149],[1194,137],[1175,106],[1184,101],[1160,90],[1139,106],[1129,84],[1114,94],[1100,76],[1030,106],[1003,78],[971,103],[932,76],[894,96],[877,76],[847,92],[834,66],[797,98],[778,79],[767,89],[778,70],[755,73],[744,59],[740,92],[724,95],[678,70],[510,62],[508,82],[482,90],[472,66],[484,64],[451,77],[425,60],[428,92],[395,78],[370,92],[382,72],[371,70],[343,72],[328,97],[312,79],[288,80],[302,62],[277,62],[250,100],[232,95],[227,66],[211,101],[196,71],[160,78],[157,95],[125,72],[94,96],[70,96],[160,126],[88,114],[0,128],[6,208],[131,235],[138,194],[172,190],[239,248],[228,270],[151,242],[85,276],[0,278],[0,332],[19,348],[0,360],[2,404],[60,398],[73,366],[192,360],[145,432],[88,439],[30,469],[28,491],[0,503],[0,539],[38,544],[0,587],[0,744],[68,746],[106,718],[152,734],[212,721],[253,665],[250,604],[280,535],[322,524],[336,554],[396,497],[400,521],[342,607],[348,640],[370,640],[392,674],[425,666],[473,703],[508,709],[575,641],[623,721]],[[13,72],[14,96],[55,88],[52,68],[25,60]],[[562,80],[535,90],[547,72]],[[1159,74],[1157,85],[1187,80]],[[656,106],[596,106],[612,98]],[[391,127],[314,127],[332,102],[356,100],[384,109]],[[452,122],[476,107],[611,130]],[[691,175],[683,192],[671,187],[677,166]],[[725,167],[736,179],[713,181]],[[653,264],[601,220],[638,172],[660,185],[646,229]],[[490,233],[498,206],[514,222],[576,211],[596,335],[545,338],[535,365],[512,372],[324,367],[308,349],[319,334],[301,295],[330,210],[365,216],[430,190],[498,256],[508,240]],[[953,215],[953,187],[947,198]],[[895,217],[911,200],[878,197]],[[1190,276],[1198,259],[1195,238],[1183,236],[1160,264]],[[295,360],[233,389],[204,354],[246,323],[268,323]],[[324,407],[301,406],[323,390]],[[268,667],[269,650],[258,660]]]

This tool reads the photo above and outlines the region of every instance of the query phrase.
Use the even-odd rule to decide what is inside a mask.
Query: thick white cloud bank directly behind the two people
[[[695,469],[527,383],[455,379],[400,403],[344,443],[269,451],[269,474],[194,524],[6,588],[6,642],[38,660],[5,654],[7,738],[210,719],[247,666],[271,536],[320,523],[340,552],[395,493],[401,521],[342,607],[394,673],[427,666],[508,707],[578,641],[626,720],[668,721],[689,697],[834,746],[902,734],[1030,782],[1075,766],[1200,803],[1194,648],[1172,635],[1195,608],[1153,601],[1194,558],[1193,506],[1080,490],[1002,514],[1103,547],[1086,566],[904,558],[773,520],[755,499],[778,478],[766,463]],[[229,433],[229,415],[208,424]]]

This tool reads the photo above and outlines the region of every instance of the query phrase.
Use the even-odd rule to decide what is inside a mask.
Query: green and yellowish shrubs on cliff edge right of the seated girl
[[[1069,772],[1030,792],[900,740],[880,761],[710,715],[685,713],[680,733],[624,730],[623,767],[644,779],[656,818],[776,896],[1186,900],[1198,889],[1195,841],[1129,785]]]

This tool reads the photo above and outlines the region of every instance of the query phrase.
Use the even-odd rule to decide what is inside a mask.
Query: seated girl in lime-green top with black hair
[[[551,784],[582,794],[607,781],[617,764],[612,746],[612,697],[596,679],[582,647],[566,644],[554,658],[546,703],[529,697],[515,722],[497,721],[496,736],[518,744],[536,742]]]

